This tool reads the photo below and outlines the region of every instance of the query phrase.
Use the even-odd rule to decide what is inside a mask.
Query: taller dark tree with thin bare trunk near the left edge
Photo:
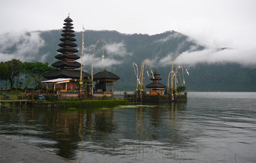
[[[20,72],[21,72],[21,64],[22,62],[19,59],[12,59],[11,61],[5,62],[9,66],[10,73],[8,75],[8,80],[11,84],[11,89],[13,88],[13,84],[16,80],[19,80]],[[17,82],[18,87],[18,82]]]

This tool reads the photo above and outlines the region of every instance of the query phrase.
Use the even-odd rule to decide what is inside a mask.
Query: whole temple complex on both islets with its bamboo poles
[[[55,56],[58,61],[51,64],[54,67],[54,70],[51,70],[47,73],[44,73],[43,76],[45,78],[41,83],[45,84],[45,89],[38,90],[36,94],[39,95],[53,95],[58,98],[58,100],[83,100],[83,99],[114,99],[117,98],[114,95],[114,86],[113,82],[116,82],[120,79],[120,77],[106,69],[97,72],[93,75],[93,66],[91,74],[82,71],[82,63],[77,62],[79,58],[83,58],[83,46],[84,46],[84,35],[82,35],[82,54],[81,57],[77,55],[79,52],[76,47],[77,41],[74,38],[76,35],[74,34],[73,20],[68,16],[64,20],[64,26],[62,30],[62,38],[59,40],[61,43],[58,44],[60,46],[57,49],[57,54]],[[83,28],[84,29],[84,28]],[[83,34],[83,33],[82,33]],[[98,41],[99,42],[99,41]],[[97,42],[97,43],[98,43]],[[97,45],[96,43],[96,45]],[[96,47],[95,45],[95,47]],[[104,52],[104,50],[103,50]],[[94,56],[94,54],[93,54]],[[176,55],[177,56],[177,55]],[[102,54],[102,59],[104,58]],[[142,68],[144,69],[144,65],[150,59],[146,58],[142,63]],[[102,60],[103,61],[103,60]],[[82,62],[82,60],[81,60]],[[93,58],[92,58],[93,65]],[[136,65],[136,64],[135,64]],[[134,65],[133,65],[134,66]],[[137,65],[136,65],[137,66]],[[79,68],[81,68],[79,70]],[[152,69],[152,68],[151,68]],[[135,70],[135,69],[134,69]],[[143,81],[143,71],[140,75],[140,80],[138,79],[137,74],[137,89],[131,95],[118,96],[118,98],[128,99],[131,102],[172,102],[172,101],[187,101],[187,95],[179,95],[175,89],[170,89],[169,85],[166,86],[160,83],[159,76],[161,75],[157,70],[154,72],[151,70],[152,77],[150,80],[152,83],[147,84],[145,87],[149,89],[149,94],[144,90],[143,84],[141,88],[139,88],[140,80]],[[173,71],[172,71],[173,72]],[[171,75],[173,78],[174,75]],[[173,79],[172,79],[173,82]],[[95,84],[96,83],[96,84]],[[169,83],[169,81],[168,81]],[[95,84],[95,85],[94,85]],[[172,85],[173,87],[173,85]],[[27,92],[31,93],[31,92]]]

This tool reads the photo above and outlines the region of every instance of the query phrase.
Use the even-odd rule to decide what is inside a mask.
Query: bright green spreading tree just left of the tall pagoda
[[[34,84],[36,85],[38,90],[42,88],[41,81],[44,80],[43,74],[54,69],[54,67],[48,66],[48,63],[31,63],[31,71],[29,75],[33,78]]]

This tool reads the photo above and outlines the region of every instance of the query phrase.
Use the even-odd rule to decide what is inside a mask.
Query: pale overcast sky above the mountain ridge
[[[256,62],[255,0],[0,0],[0,34],[60,29],[69,12],[75,31],[82,23],[121,33],[174,30],[209,49],[239,49],[236,55]]]

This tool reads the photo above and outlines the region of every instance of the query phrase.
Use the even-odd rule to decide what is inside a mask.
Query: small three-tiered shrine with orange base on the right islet
[[[161,74],[155,70],[151,75],[154,76],[154,78],[150,78],[153,83],[146,85],[146,87],[149,88],[149,95],[162,95],[164,93],[162,90],[164,90],[166,86],[159,82],[159,80],[162,80],[162,78],[158,77]]]

